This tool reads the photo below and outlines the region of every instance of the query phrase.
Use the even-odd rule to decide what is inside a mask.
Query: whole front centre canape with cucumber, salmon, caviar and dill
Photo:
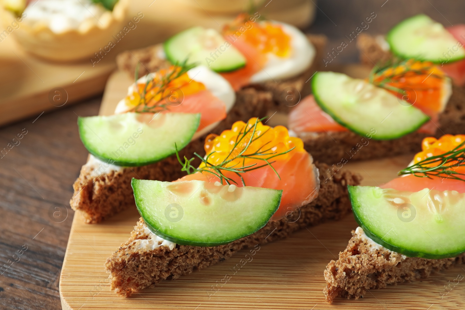
[[[205,142],[199,166],[179,157],[189,174],[175,182],[133,180],[140,221],[106,261],[119,296],[176,279],[292,232],[350,211],[347,185],[360,177],[314,164],[286,127],[260,119],[233,124]],[[255,248],[256,249],[256,248]]]

